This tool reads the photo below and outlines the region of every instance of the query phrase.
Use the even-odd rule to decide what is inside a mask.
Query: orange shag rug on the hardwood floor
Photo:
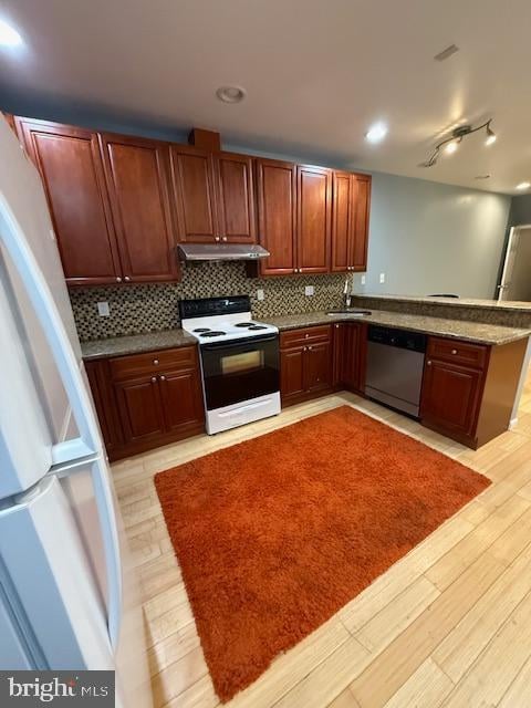
[[[350,406],[158,473],[221,700],[489,483]]]

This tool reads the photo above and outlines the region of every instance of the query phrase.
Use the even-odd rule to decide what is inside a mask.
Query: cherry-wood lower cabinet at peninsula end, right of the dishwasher
[[[473,449],[508,430],[527,344],[487,346],[430,336],[420,423]]]

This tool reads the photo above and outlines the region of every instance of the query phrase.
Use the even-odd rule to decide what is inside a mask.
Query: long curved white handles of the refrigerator
[[[1,241],[15,267],[28,293],[33,310],[42,325],[52,351],[62,384],[66,391],[80,437],[53,446],[53,467],[62,464],[83,461],[96,455],[92,465],[94,496],[97,504],[104,541],[105,568],[108,587],[107,626],[113,648],[116,648],[122,616],[122,573],[118,533],[114,516],[113,492],[105,466],[100,430],[94,417],[88,392],[79,369],[77,361],[70,344],[63,321],[58,311],[50,288],[30,249],[24,232],[13,216],[6,198],[0,194],[0,212],[7,221],[7,229],[0,230]],[[86,461],[86,459],[85,459]]]

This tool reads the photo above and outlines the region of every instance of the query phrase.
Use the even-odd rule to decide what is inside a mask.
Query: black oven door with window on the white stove
[[[201,344],[207,410],[280,389],[279,335]]]

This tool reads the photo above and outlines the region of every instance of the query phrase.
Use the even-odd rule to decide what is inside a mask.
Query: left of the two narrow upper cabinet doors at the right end
[[[352,219],[351,205],[355,189],[348,173],[334,173],[332,189],[332,272],[351,270]]]

